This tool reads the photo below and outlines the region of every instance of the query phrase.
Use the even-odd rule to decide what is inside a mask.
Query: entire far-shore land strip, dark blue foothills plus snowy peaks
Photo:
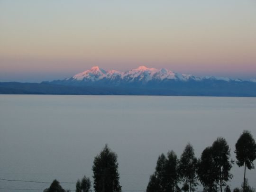
[[[196,77],[140,66],[127,72],[99,67],[41,83],[0,82],[0,94],[180,95],[256,97],[256,80]]]

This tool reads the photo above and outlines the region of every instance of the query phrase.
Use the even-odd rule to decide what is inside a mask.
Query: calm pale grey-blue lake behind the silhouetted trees
[[[190,142],[200,157],[221,136],[235,160],[244,129],[256,138],[256,98],[0,95],[0,178],[57,179],[75,190],[83,175],[93,181],[93,159],[108,144],[118,155],[122,190],[145,191],[161,153],[180,156]],[[231,170],[233,189],[242,183],[243,168]],[[256,171],[247,170],[247,178],[256,188]],[[0,180],[0,192],[49,185]]]

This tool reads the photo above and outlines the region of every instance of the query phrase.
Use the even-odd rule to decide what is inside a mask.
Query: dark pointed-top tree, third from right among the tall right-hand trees
[[[194,187],[197,185],[197,175],[196,175],[196,167],[197,167],[197,158],[194,155],[193,146],[187,144],[181,155],[180,164],[179,164],[179,172],[183,179],[183,182],[189,184],[189,190],[194,191]]]

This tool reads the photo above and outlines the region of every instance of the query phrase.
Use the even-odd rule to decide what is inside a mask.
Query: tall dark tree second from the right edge
[[[222,192],[222,186],[226,186],[226,182],[233,177],[229,173],[232,168],[233,160],[230,158],[230,149],[227,141],[223,137],[218,137],[212,144],[212,156],[214,167],[217,170],[216,179]]]

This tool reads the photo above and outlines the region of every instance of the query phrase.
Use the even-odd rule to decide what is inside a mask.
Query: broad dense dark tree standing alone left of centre
[[[118,162],[116,153],[106,145],[101,153],[94,158],[93,166],[95,192],[119,192]]]

